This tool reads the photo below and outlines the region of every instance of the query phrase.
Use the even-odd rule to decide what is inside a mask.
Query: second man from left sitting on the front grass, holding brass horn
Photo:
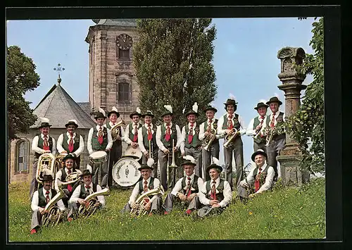
[[[92,182],[92,173],[89,170],[83,170],[81,175],[83,177],[83,183],[75,188],[73,194],[68,201],[68,221],[71,221],[74,216],[77,215],[80,206],[88,206],[87,201],[84,199],[89,194],[101,191],[101,186]],[[103,195],[96,196],[96,203],[94,204],[97,208],[103,208],[105,206],[105,198]]]

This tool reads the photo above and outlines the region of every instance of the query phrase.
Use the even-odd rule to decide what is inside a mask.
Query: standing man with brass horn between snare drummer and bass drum
[[[118,109],[113,107],[112,110],[108,113],[109,122],[104,125],[109,130],[111,127],[116,125],[116,121],[120,117],[120,113],[118,113]],[[120,160],[122,156],[122,141],[125,141],[125,130],[122,129],[121,126],[117,128],[118,134],[115,134],[111,131],[111,137],[113,138],[113,146],[110,150],[109,157],[109,167],[108,167],[108,186],[111,187],[113,185],[113,165]]]

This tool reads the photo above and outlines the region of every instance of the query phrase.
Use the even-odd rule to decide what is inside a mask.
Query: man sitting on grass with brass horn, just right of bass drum
[[[144,193],[149,192],[151,189],[160,186],[160,180],[151,176],[151,170],[153,170],[153,163],[153,158],[149,158],[146,162],[146,165],[142,164],[141,167],[138,168],[138,170],[141,171],[142,180],[137,182],[137,184],[134,186],[134,189],[130,196],[130,200],[122,209],[122,213],[130,213],[132,208],[137,209],[139,206],[139,204],[135,202],[137,196],[143,195]],[[163,200],[161,199],[160,194],[147,196],[142,202],[145,203],[144,208],[146,209],[146,211],[149,212],[149,215],[152,215],[153,213],[160,213],[161,206],[163,204]]]

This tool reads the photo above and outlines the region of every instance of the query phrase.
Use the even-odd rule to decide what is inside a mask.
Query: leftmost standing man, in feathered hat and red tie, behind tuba
[[[45,153],[51,153],[54,156],[56,154],[55,139],[49,136],[49,131],[51,127],[51,125],[49,125],[49,119],[41,118],[41,120],[42,123],[39,126],[40,134],[36,135],[32,140],[32,151],[34,151],[34,160],[32,168],[32,182],[30,183],[30,199],[32,199],[34,191],[38,189],[36,175],[39,157]]]

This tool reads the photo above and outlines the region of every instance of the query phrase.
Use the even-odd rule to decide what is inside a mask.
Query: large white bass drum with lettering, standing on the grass
[[[113,180],[121,187],[130,187],[135,185],[141,177],[141,172],[138,170],[140,164],[134,158],[120,158],[113,165]]]

